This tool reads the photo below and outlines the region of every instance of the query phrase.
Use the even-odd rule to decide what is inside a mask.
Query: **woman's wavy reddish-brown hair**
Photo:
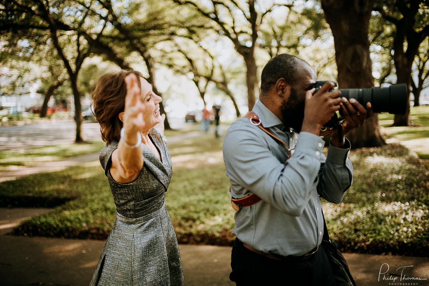
[[[127,84],[124,79],[129,74],[135,74],[137,79],[143,77],[135,70],[108,72],[100,77],[92,92],[94,115],[100,123],[101,138],[109,145],[121,137],[122,121],[118,114],[124,111]],[[141,88],[140,80],[137,80]]]

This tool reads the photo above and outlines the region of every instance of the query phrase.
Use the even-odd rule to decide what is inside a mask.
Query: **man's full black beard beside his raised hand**
[[[299,100],[296,90],[291,88],[289,98],[284,100],[280,106],[284,126],[291,127],[296,132],[300,132],[302,121],[304,121],[304,109],[305,100]]]

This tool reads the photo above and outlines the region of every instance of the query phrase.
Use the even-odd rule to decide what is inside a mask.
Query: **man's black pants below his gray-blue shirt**
[[[236,239],[231,268],[230,280],[237,286],[336,286],[322,247],[302,262],[283,262],[254,253]]]

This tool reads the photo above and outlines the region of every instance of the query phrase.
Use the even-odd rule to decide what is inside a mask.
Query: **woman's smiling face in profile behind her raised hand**
[[[143,120],[150,128],[154,127],[162,121],[160,114],[160,102],[162,98],[157,96],[153,90],[152,85],[144,78],[140,78],[141,83],[141,101],[145,105],[143,110]]]

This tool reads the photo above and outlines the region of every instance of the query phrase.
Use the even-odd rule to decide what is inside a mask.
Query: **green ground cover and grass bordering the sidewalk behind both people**
[[[208,136],[171,144],[166,204],[181,243],[230,245],[234,211],[221,152]],[[343,251],[429,253],[429,172],[399,144],[352,151],[353,186],[340,205],[323,202],[331,239]],[[60,205],[61,204],[61,205]],[[22,222],[16,235],[105,239],[115,205],[98,162],[0,184],[1,206],[56,206]]]

